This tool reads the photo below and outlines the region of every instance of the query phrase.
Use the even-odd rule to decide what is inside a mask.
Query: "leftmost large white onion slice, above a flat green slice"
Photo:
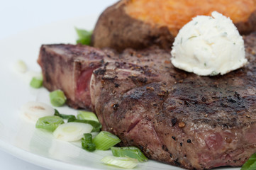
[[[21,107],[23,118],[32,123],[36,123],[39,118],[54,115],[54,109],[45,103],[30,101]]]

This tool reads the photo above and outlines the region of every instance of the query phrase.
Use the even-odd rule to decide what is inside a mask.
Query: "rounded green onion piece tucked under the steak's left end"
[[[52,106],[63,106],[66,102],[67,98],[63,91],[61,90],[55,90],[50,92],[50,103],[52,103]]]

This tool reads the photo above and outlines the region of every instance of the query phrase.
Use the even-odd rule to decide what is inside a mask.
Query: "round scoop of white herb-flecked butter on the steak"
[[[171,54],[174,67],[200,76],[223,75],[247,63],[243,37],[216,11],[196,16],[179,30]]]

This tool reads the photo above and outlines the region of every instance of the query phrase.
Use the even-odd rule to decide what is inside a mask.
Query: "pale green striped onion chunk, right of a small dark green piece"
[[[121,140],[111,132],[101,131],[92,142],[96,145],[96,149],[107,150],[121,142]]]

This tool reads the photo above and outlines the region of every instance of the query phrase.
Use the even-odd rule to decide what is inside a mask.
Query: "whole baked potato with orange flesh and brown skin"
[[[256,30],[256,0],[121,0],[101,14],[91,37],[94,47],[171,49],[174,37],[191,18],[218,11],[240,34]]]

